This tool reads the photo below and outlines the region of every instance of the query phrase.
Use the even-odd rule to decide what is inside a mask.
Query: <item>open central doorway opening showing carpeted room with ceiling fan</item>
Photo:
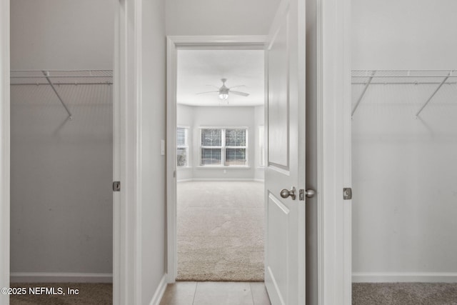
[[[177,59],[176,280],[263,281],[263,50]]]

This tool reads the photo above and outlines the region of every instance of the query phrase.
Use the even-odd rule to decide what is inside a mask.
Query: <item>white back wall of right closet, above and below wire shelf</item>
[[[457,68],[456,1],[352,3],[353,69]],[[456,87],[414,117],[436,86],[372,85],[353,117],[356,281],[457,281]]]

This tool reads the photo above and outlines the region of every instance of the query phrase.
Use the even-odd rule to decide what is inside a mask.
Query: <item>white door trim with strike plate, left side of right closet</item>
[[[351,0],[317,3],[318,304],[351,305]],[[318,196],[319,197],[319,196]]]

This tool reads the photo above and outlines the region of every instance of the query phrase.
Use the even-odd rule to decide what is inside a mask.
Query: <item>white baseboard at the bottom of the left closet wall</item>
[[[112,283],[113,274],[72,272],[11,272],[11,283]]]

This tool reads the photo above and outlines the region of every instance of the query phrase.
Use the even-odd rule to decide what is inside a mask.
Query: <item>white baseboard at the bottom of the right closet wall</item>
[[[385,272],[352,274],[353,283],[457,283],[456,272]]]

